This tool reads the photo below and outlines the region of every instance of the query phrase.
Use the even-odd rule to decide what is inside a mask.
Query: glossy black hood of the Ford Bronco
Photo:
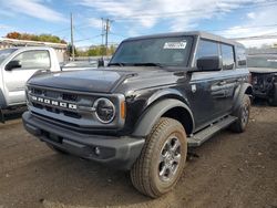
[[[106,67],[33,76],[28,84],[72,91],[112,93],[176,83],[179,75],[158,67]]]

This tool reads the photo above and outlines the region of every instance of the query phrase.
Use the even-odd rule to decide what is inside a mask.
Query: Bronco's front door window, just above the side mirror
[[[203,56],[218,55],[218,43],[201,40],[196,52],[196,60]]]

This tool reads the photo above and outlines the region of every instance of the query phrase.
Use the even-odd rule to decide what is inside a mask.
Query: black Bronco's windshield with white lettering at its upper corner
[[[122,42],[109,65],[187,66],[193,37]]]

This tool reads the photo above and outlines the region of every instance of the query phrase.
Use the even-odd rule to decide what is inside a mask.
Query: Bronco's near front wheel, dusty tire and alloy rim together
[[[186,154],[187,141],[183,125],[162,117],[147,136],[131,169],[134,187],[152,198],[168,193],[182,176]]]

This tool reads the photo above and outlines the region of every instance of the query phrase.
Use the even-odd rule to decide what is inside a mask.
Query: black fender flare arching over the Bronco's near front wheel
[[[166,98],[157,103],[154,103],[145,111],[145,113],[140,117],[138,122],[136,123],[132,135],[135,137],[146,137],[151,133],[153,126],[162,117],[162,115],[174,107],[183,107],[185,111],[189,113],[194,128],[195,124],[194,124],[193,113],[189,110],[189,107],[185,103],[178,100]]]

